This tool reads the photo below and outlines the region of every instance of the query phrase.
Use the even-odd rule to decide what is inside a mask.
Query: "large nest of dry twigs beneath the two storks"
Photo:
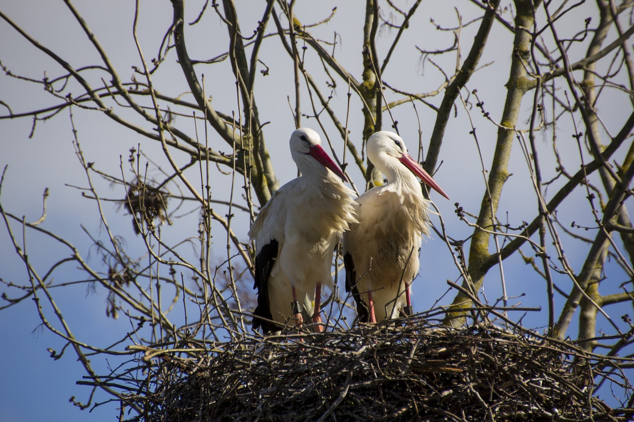
[[[605,361],[517,327],[455,329],[412,318],[176,346],[136,347],[145,350],[139,362],[148,378],[136,390],[145,393],[126,395],[126,406],[143,409],[130,420],[621,421],[633,414],[593,395]],[[628,380],[609,375],[631,400]]]

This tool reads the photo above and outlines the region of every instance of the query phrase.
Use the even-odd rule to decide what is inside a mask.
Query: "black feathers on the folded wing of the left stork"
[[[271,333],[278,329],[275,324],[267,320],[273,319],[269,305],[268,285],[269,276],[271,276],[271,270],[279,252],[279,246],[280,242],[271,239],[268,244],[262,246],[260,253],[256,256],[256,277],[253,288],[257,288],[257,307],[253,312],[253,329],[262,327],[264,333]]]

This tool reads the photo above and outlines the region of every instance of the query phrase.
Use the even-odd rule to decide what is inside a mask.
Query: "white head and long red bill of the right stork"
[[[367,152],[370,161],[381,172],[389,174],[391,173],[390,169],[392,169],[392,173],[396,172],[398,174],[398,166],[404,166],[413,174],[420,177],[430,188],[449,199],[449,196],[444,193],[443,188],[438,186],[429,173],[411,157],[407,152],[407,147],[403,139],[394,132],[380,131],[370,136],[370,139],[368,139]]]

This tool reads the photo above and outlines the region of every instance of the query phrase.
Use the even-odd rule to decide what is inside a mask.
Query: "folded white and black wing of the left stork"
[[[290,184],[290,183],[288,183]],[[256,241],[256,276],[253,288],[257,289],[257,307],[253,312],[253,328],[264,332],[275,331],[269,305],[268,283],[275,262],[284,245],[284,224],[287,214],[288,184],[275,191],[261,208],[249,231],[249,238]],[[259,318],[261,317],[261,318]]]

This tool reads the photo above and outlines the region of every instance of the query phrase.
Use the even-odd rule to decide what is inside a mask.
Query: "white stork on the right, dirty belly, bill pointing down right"
[[[376,132],[367,144],[368,159],[387,184],[357,198],[359,224],[344,233],[346,291],[352,291],[359,321],[376,323],[411,314],[410,284],[420,267],[422,235],[429,235],[428,202],[420,177],[449,199],[443,189],[408,154],[393,132]]]

